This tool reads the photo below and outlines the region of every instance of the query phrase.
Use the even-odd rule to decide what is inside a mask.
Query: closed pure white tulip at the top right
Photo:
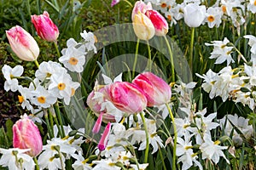
[[[201,26],[206,18],[207,8],[205,5],[189,3],[183,8],[184,21],[189,27]]]

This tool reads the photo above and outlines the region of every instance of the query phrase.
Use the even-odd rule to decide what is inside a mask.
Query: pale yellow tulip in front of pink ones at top
[[[149,40],[154,37],[154,25],[143,13],[135,14],[132,26],[136,36],[142,40]]]

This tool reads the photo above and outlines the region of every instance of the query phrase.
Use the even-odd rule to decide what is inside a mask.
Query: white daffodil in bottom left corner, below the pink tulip
[[[34,169],[35,163],[32,157],[25,154],[27,150],[30,149],[23,150],[19,148],[12,148],[5,150],[0,148],[0,154],[3,154],[0,158],[0,165],[3,167],[8,167],[11,170]],[[20,164],[22,167],[20,167]]]

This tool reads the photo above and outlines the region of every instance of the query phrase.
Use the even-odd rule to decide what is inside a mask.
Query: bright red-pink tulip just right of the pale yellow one
[[[146,15],[154,25],[156,36],[166,36],[169,26],[166,19],[156,10],[147,10]]]

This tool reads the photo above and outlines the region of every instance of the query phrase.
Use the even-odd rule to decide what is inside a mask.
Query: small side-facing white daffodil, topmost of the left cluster
[[[96,42],[96,37],[93,35],[92,32],[86,32],[84,30],[84,32],[81,32],[80,33],[81,37],[84,38],[84,45],[85,45],[85,48],[87,48],[88,51],[90,50],[93,50],[94,53],[96,54],[97,53],[97,49],[95,47],[95,42]]]

